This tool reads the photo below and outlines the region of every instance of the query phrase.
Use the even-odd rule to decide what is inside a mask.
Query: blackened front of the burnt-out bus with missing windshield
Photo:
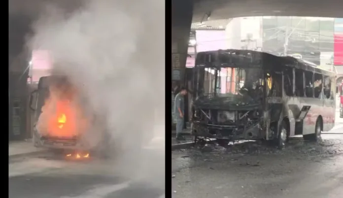
[[[192,118],[196,136],[263,138],[263,69],[254,55],[248,50],[197,55]]]

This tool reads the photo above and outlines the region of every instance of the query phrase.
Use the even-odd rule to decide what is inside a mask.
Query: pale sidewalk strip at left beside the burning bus
[[[11,141],[8,143],[8,157],[20,157],[46,152],[46,149],[36,148],[32,139],[26,141]]]

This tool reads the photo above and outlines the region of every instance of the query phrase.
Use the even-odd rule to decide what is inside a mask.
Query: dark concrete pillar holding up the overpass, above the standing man
[[[184,86],[189,33],[193,16],[193,0],[172,0],[171,3],[171,80]]]

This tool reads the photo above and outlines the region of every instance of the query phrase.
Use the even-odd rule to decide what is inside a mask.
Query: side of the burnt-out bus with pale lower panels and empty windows
[[[274,112],[271,118],[276,117],[274,129],[283,123],[286,137],[303,135],[305,140],[318,141],[321,132],[330,131],[335,125],[335,73],[291,57],[283,59],[284,64],[270,69],[272,77],[276,71],[279,73],[273,81],[282,79],[278,83],[282,85],[279,110],[275,108],[278,101],[273,101],[277,97],[267,98],[267,107]]]

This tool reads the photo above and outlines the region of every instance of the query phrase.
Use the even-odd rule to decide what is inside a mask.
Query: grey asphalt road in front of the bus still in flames
[[[12,160],[9,198],[159,198],[164,195],[164,189],[128,179],[114,166],[111,160],[67,161],[54,154]]]

